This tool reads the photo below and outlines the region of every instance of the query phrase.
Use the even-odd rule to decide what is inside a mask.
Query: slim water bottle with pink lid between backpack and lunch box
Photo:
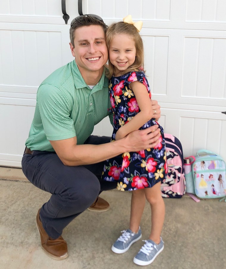
[[[186,192],[195,194],[193,174],[192,174],[192,163],[194,163],[195,157],[189,156],[184,158],[183,160],[184,160],[184,177],[186,182]]]

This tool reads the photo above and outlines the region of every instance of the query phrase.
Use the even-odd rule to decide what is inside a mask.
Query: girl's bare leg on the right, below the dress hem
[[[161,182],[158,182],[152,188],[145,188],[145,196],[151,206],[151,233],[149,239],[156,244],[160,243],[165,217],[165,204],[161,196],[160,184]]]

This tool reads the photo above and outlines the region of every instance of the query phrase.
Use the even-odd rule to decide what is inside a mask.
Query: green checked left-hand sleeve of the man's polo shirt
[[[39,87],[37,106],[48,140],[62,140],[76,136],[74,123],[70,118],[69,98],[63,96],[60,89],[52,85],[43,84]]]

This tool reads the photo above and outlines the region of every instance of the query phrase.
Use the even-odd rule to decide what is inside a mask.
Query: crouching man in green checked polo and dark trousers
[[[32,184],[52,194],[38,210],[36,223],[43,251],[53,259],[68,256],[61,234],[70,221],[87,208],[109,208],[106,201],[97,198],[101,191],[116,187],[114,182],[101,181],[103,161],[158,143],[159,129],[155,126],[136,130],[113,143],[109,137],[91,136],[95,124],[111,117],[104,75],[106,29],[96,15],[74,19],[70,48],[75,60],[53,72],[37,92],[22,169]],[[156,101],[152,108],[158,118]]]

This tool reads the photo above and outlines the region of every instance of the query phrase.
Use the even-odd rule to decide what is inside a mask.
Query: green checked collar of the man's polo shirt
[[[96,92],[100,89],[103,89],[103,87],[105,87],[105,86],[108,87],[108,80],[105,76],[105,69],[106,68],[104,67],[101,79],[91,90],[90,87],[84,81],[84,78],[82,77],[82,75],[79,71],[78,65],[76,64],[76,61],[73,60],[72,61],[72,74],[73,74],[73,79],[74,79],[76,89],[89,88],[91,90],[91,92],[93,93],[93,92]]]

